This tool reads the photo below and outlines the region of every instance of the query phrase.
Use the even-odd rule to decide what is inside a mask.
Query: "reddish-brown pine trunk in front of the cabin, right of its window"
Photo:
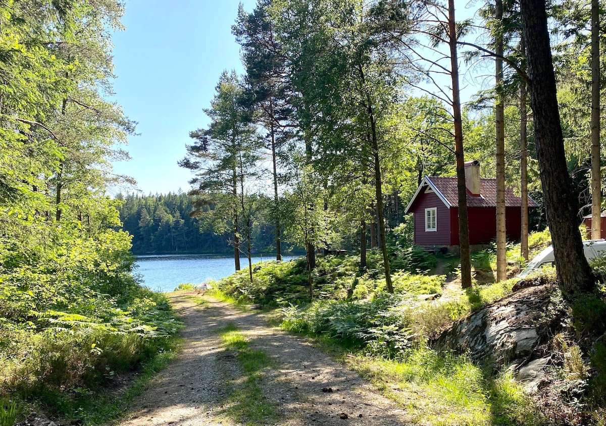
[[[454,0],[448,0],[448,44],[450,45],[451,79],[453,87],[454,156],[459,201],[459,251],[461,254],[461,287],[471,287],[471,258],[469,252],[469,226],[467,222],[467,187],[465,187],[465,159],[463,155],[463,123],[461,119],[461,93],[459,93],[459,62],[457,56]]]

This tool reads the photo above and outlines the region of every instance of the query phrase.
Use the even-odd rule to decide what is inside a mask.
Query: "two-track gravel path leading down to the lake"
[[[206,307],[196,306],[183,295],[173,296],[173,306],[185,324],[184,350],[133,402],[133,411],[121,426],[238,425],[222,411],[229,392],[225,384],[238,378],[240,367],[215,333],[230,322],[247,336],[252,348],[273,361],[264,370],[261,388],[281,414],[276,425],[411,424],[396,404],[307,339],[268,327],[253,311],[208,301]]]

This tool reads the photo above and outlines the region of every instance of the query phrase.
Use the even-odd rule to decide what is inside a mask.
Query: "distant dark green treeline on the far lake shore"
[[[216,253],[233,254],[229,233],[218,234],[201,228],[191,218],[192,197],[186,193],[167,195],[118,195],[122,229],[133,236],[133,254]],[[253,228],[253,247],[268,253],[275,250],[275,228],[262,219]]]

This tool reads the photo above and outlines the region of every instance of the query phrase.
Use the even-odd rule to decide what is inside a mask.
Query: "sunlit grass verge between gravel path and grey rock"
[[[510,374],[489,374],[466,356],[419,345],[399,359],[347,356],[348,367],[419,424],[538,425],[542,416]]]

